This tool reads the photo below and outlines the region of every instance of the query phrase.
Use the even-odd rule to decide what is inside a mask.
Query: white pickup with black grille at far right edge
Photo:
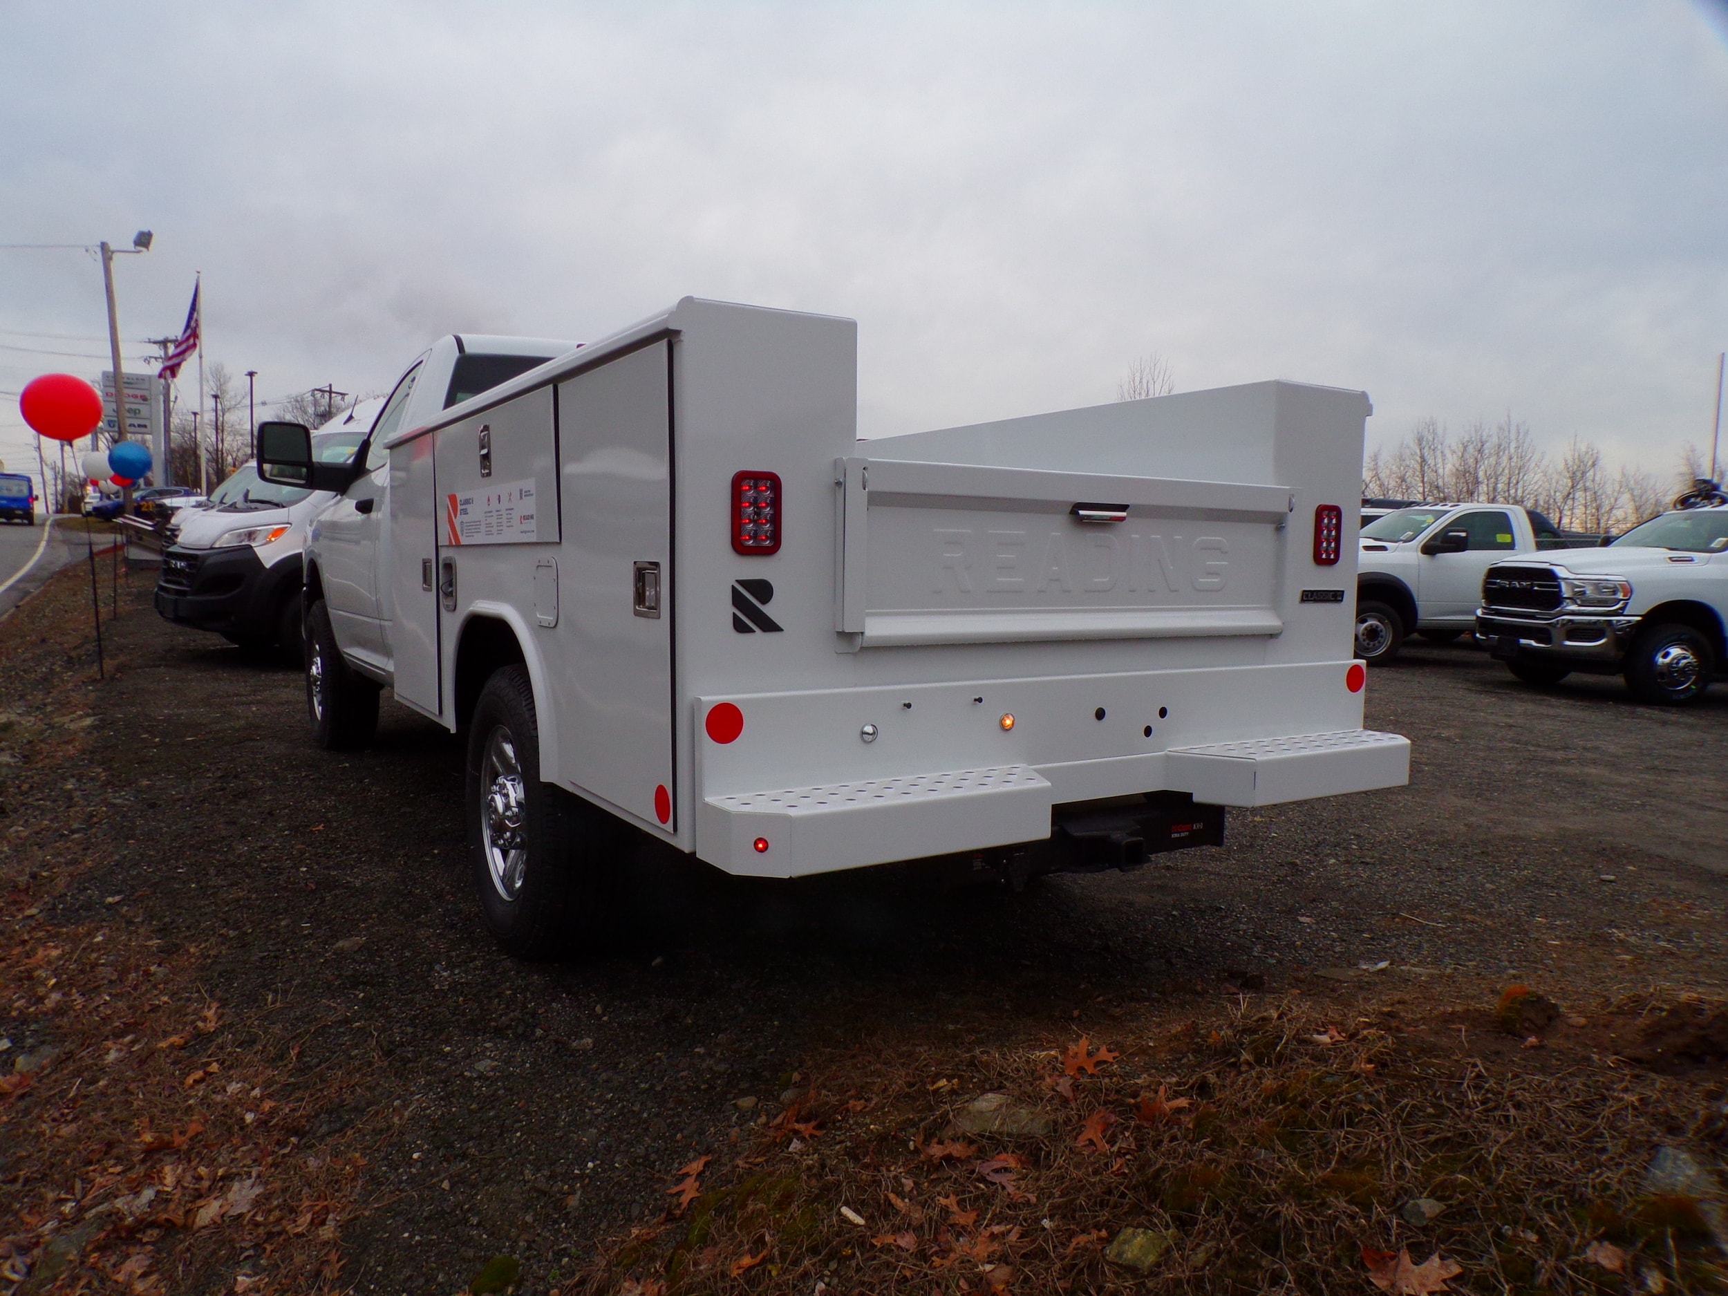
[[[1514,676],[1624,676],[1642,702],[1685,705],[1728,670],[1728,506],[1662,513],[1605,548],[1502,562],[1476,636]]]

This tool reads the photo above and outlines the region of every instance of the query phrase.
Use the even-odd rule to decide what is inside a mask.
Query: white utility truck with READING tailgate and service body
[[[306,550],[308,702],[467,731],[506,949],[603,938],[627,831],[734,874],[1021,881],[1403,785],[1351,658],[1362,392],[1263,382],[857,439],[850,320],[684,299],[444,408],[449,339]],[[392,411],[401,411],[394,413]]]

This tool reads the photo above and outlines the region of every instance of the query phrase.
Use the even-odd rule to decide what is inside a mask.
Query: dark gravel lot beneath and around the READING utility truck
[[[1255,976],[1583,1002],[1728,975],[1728,688],[1669,712],[1419,645],[1369,686],[1369,724],[1415,743],[1407,790],[1232,812],[1223,848],[1018,897],[658,867],[622,952],[524,966],[468,895],[456,740],[387,700],[370,750],[316,750],[295,670],[164,624],[143,581],[97,684],[74,577],[0,624],[5,912],[29,940],[104,921],[161,942],[285,1068],[342,1077],[299,1147],[370,1139],[340,1227],[361,1293],[454,1291],[494,1255],[555,1286],[766,1120],[804,1058],[871,1032],[988,1044]],[[0,1032],[35,1044],[12,1002]],[[0,1211],[26,1210],[36,1185],[3,1153],[0,1175]],[[176,1289],[232,1291],[235,1263]]]

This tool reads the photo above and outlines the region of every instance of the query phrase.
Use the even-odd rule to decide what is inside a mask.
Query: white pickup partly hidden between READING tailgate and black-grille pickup
[[[1517,505],[1412,505],[1362,527],[1356,657],[1384,664],[1412,634],[1450,643],[1476,624],[1483,572],[1510,553],[1595,544]]]

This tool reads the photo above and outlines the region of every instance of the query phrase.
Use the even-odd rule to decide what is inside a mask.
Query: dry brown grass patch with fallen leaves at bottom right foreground
[[[1417,1021],[1239,999],[1113,1026],[1087,1056],[1120,1058],[1071,1077],[1078,1037],[871,1040],[826,1061],[748,1154],[715,1158],[686,1213],[610,1246],[570,1291],[1363,1293],[1363,1248],[1438,1249],[1464,1291],[1716,1289],[1695,1208],[1642,1198],[1640,1180],[1659,1142],[1719,1149],[1719,1085],[1547,1051],[1484,1064],[1412,1030],[1491,1030],[1491,1009]],[[957,1130],[985,1092],[1049,1132]],[[1445,1211],[1414,1227],[1414,1198]],[[1144,1274],[1104,1255],[1125,1227],[1170,1241]],[[1593,1239],[1630,1253],[1628,1277],[1585,1260]]]

